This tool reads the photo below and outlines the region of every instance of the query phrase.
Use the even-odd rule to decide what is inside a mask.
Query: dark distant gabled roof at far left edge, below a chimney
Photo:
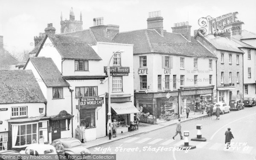
[[[8,51],[0,47],[0,68],[9,68],[11,65],[17,65],[18,62]]]

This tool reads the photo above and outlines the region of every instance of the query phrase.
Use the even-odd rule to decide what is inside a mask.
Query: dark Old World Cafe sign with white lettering
[[[80,108],[86,107],[98,107],[104,104],[103,97],[90,97],[90,98],[80,98],[79,105]]]

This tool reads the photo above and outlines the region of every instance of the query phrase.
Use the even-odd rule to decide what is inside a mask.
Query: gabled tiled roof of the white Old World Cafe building
[[[42,45],[37,51],[36,56],[44,46],[44,42],[48,37],[63,59],[102,60],[93,50],[93,48],[84,41],[84,39],[77,36],[67,36],[60,34],[56,34],[55,38],[52,38],[48,35],[45,36]],[[37,48],[34,49],[37,50]]]

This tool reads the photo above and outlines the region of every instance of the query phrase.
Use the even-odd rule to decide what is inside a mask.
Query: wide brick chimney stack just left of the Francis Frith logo
[[[188,41],[191,41],[191,25],[189,22],[174,23],[172,33],[183,35]]]

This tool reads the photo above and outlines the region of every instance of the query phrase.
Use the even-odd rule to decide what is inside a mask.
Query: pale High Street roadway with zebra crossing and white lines
[[[206,142],[190,141],[196,137],[197,124],[203,125],[202,137],[207,138]],[[177,150],[184,140],[179,135],[172,139],[176,129],[172,125],[89,150],[92,154],[116,154],[116,160],[256,160],[256,107],[231,111],[219,120],[212,116],[185,121],[181,126],[182,132],[190,132],[189,145],[195,145],[196,149]],[[235,139],[231,140],[233,147],[227,150],[224,133],[228,127]]]

